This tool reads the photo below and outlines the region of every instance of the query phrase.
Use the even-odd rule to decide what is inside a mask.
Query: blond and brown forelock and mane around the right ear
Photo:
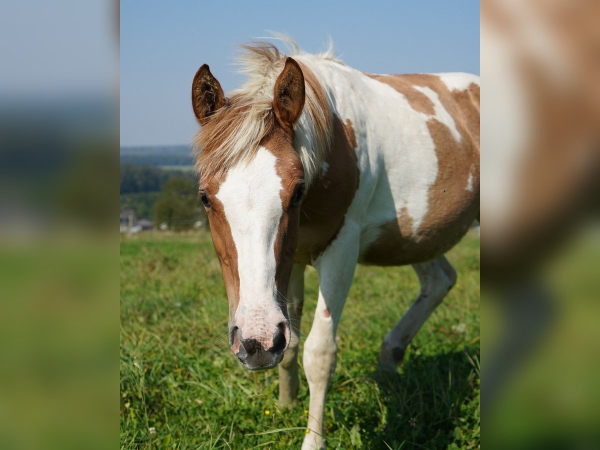
[[[320,55],[308,55],[299,52],[292,40],[286,43],[292,47],[290,56],[301,65],[305,78],[305,106],[294,126],[293,146],[310,185],[320,170],[332,133],[331,102],[311,66],[334,58],[331,49]],[[273,112],[273,94],[286,55],[266,42],[245,44],[241,49],[238,62],[241,71],[248,76],[247,82],[231,92],[226,105],[208,119],[193,140],[195,169],[200,176],[221,173],[235,164],[251,160],[261,142],[278,126]]]

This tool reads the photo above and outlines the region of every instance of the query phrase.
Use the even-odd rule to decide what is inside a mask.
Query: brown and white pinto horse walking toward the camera
[[[324,448],[335,335],[355,267],[412,265],[418,298],[383,338],[378,366],[407,345],[456,283],[444,254],[479,214],[479,77],[376,75],[323,53],[241,46],[248,80],[224,95],[204,64],[191,102],[199,199],[229,300],[229,346],[250,370],[279,365],[299,387],[304,270],[319,298],[304,344],[310,391],[302,449]]]

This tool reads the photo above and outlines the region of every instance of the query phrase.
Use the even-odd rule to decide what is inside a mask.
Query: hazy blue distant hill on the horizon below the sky
[[[189,167],[194,160],[188,145],[122,146],[121,164]]]

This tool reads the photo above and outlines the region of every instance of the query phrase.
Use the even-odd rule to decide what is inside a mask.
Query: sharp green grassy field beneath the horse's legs
[[[457,286],[389,376],[375,371],[380,342],[416,298],[418,280],[410,267],[357,268],[326,403],[328,448],[479,448],[478,236],[448,259]],[[314,269],[305,280],[303,338],[316,305]],[[123,238],[121,448],[300,448],[306,380],[298,404],[280,410],[277,370],[247,371],[227,347],[227,308],[208,234]]]

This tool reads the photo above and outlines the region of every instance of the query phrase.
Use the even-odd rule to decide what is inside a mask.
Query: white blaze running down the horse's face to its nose
[[[233,242],[238,253],[239,304],[235,323],[244,338],[265,326],[268,344],[272,329],[284,320],[275,288],[275,238],[283,214],[281,178],[275,170],[277,158],[260,147],[256,157],[227,173],[216,195],[223,203]],[[274,321],[274,322],[273,322]]]

